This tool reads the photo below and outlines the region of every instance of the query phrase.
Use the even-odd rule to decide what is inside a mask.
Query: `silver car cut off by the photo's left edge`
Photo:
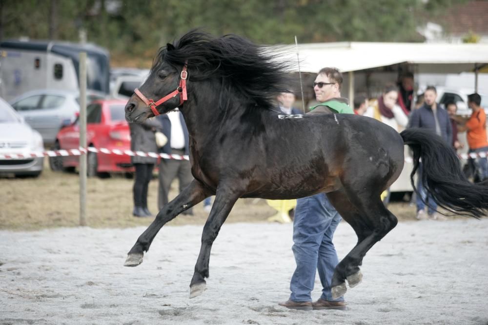
[[[43,150],[41,134],[25,123],[23,118],[0,98],[0,175],[39,176],[44,157],[31,158],[30,153],[42,153]],[[6,155],[23,157],[6,159]]]

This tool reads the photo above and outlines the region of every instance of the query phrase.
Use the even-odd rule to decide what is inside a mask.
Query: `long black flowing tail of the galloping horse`
[[[439,206],[476,218],[485,214],[483,209],[488,209],[488,186],[468,182],[457,154],[444,139],[422,129],[407,129],[400,135],[413,151],[410,180],[417,194],[413,176],[422,158],[422,183]]]

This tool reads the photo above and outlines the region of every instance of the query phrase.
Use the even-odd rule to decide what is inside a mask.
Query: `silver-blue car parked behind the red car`
[[[89,93],[86,101],[101,98],[102,95]],[[61,126],[70,124],[80,112],[79,92],[69,90],[35,90],[14,98],[10,104],[41,134],[46,145],[53,144]]]

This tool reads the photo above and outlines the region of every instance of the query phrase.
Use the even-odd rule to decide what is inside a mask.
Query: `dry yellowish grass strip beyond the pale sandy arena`
[[[76,227],[79,222],[79,176],[77,173],[52,172],[47,164],[39,178],[0,177],[0,229],[37,230]],[[87,222],[92,228],[126,228],[149,225],[152,218],[132,216],[133,180],[123,175],[89,178],[87,181]],[[157,212],[158,180],[149,184],[149,210]],[[170,199],[178,194],[173,182]],[[415,208],[407,202],[393,202],[388,208],[399,220],[414,220]],[[226,223],[266,222],[276,211],[263,199],[240,199]],[[180,215],[169,225],[204,224],[208,213],[203,205],[194,216]]]

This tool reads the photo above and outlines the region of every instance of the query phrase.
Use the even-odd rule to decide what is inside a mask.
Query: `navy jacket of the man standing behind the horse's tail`
[[[447,111],[437,105],[437,119],[439,121],[439,127],[441,128],[441,136],[446,140],[446,143],[451,145],[452,143],[452,127],[451,121]],[[408,118],[407,128],[424,128],[431,130],[435,134],[435,119],[432,108],[427,104],[422,105],[419,109],[410,113]]]

